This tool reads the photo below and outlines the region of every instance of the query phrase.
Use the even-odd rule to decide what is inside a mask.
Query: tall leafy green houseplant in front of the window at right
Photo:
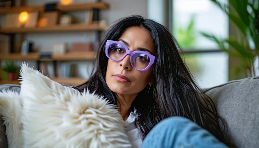
[[[259,56],[259,0],[229,0],[229,5],[217,0],[211,1],[227,14],[240,30],[242,37],[230,36],[229,39],[221,39],[205,32],[201,34],[215,41],[222,51],[240,59],[239,69],[245,71],[247,77],[257,75],[256,69],[259,67],[255,67],[255,60]],[[226,45],[234,50],[228,49]]]

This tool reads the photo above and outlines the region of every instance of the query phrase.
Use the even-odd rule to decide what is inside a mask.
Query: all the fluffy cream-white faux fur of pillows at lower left
[[[52,81],[25,63],[21,92],[0,93],[10,147],[130,147],[118,110],[103,97]]]

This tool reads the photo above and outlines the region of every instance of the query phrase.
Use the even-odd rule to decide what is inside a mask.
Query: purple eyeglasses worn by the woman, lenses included
[[[106,56],[114,61],[121,61],[127,54],[130,55],[131,66],[139,71],[146,71],[155,63],[156,57],[144,51],[130,51],[121,42],[107,40],[105,46]]]

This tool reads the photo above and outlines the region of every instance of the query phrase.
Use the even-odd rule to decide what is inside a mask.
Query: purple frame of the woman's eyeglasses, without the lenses
[[[109,47],[110,47],[111,44],[119,44],[119,45],[123,46],[123,47],[126,49],[125,55],[124,55],[120,60],[114,60],[114,59],[112,59],[112,58],[109,56],[108,50],[109,50]],[[149,62],[148,66],[147,66],[145,69],[137,69],[137,68],[135,68],[135,67],[133,66],[133,64],[132,64],[132,56],[133,56],[135,53],[145,54],[145,55],[147,55],[147,56],[150,58],[150,62]],[[111,59],[111,60],[113,60],[113,61],[116,61],[116,62],[119,62],[119,61],[123,60],[123,59],[129,54],[129,55],[130,55],[130,64],[131,64],[131,66],[132,66],[134,69],[138,70],[138,71],[146,71],[146,70],[148,70],[148,69],[151,67],[152,64],[154,64],[154,63],[156,62],[156,57],[153,56],[153,55],[151,55],[150,53],[147,53],[147,52],[145,52],[145,51],[130,51],[130,50],[127,48],[127,46],[125,46],[123,43],[118,42],[118,41],[114,41],[114,40],[107,40],[107,41],[106,41],[105,54],[106,54],[107,58],[109,58],[109,59]]]

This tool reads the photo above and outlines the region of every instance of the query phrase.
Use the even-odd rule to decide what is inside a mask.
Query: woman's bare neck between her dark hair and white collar
[[[129,117],[131,104],[138,94],[121,95],[115,93],[115,95],[117,97],[117,106],[119,108],[119,112],[121,113],[122,119],[125,121]]]

